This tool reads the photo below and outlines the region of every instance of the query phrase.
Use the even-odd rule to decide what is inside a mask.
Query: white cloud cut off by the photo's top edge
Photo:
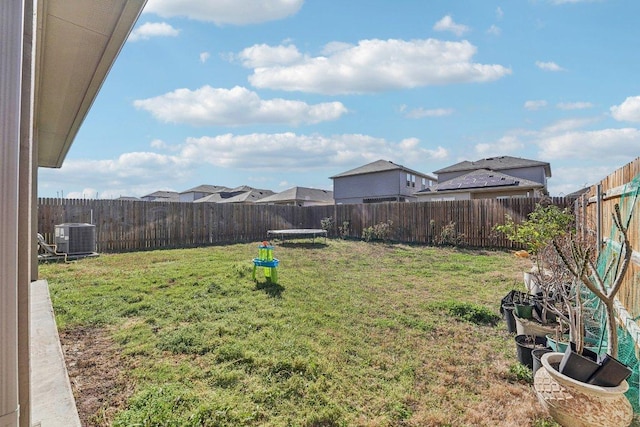
[[[284,19],[295,15],[304,0],[149,0],[144,8],[168,18],[187,18],[217,25],[246,25]]]

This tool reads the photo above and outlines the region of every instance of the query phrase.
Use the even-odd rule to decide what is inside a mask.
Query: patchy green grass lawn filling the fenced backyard
[[[84,423],[553,425],[498,317],[526,262],[299,241],[256,284],[257,246],[40,266]]]

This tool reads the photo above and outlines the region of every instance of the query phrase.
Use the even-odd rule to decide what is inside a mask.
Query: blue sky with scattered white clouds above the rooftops
[[[635,0],[149,0],[42,197],[331,189],[509,155],[552,195],[640,155]]]

